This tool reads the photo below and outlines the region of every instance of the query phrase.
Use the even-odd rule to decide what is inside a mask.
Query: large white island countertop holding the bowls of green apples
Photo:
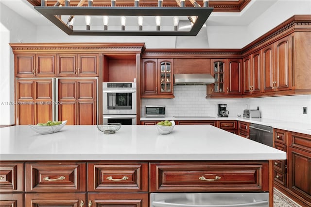
[[[96,125],[65,125],[40,135],[27,125],[0,128],[0,160],[268,160],[286,153],[211,125],[122,125],[105,135]]]

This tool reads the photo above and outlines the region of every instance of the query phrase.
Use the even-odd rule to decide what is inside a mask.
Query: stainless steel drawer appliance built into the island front
[[[151,193],[150,207],[269,207],[269,193]]]

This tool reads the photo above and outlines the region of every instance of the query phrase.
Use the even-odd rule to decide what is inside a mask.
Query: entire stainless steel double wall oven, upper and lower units
[[[103,83],[103,122],[134,125],[137,119],[136,83]]]

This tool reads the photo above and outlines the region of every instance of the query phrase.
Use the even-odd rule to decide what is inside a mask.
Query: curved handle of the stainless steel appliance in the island
[[[268,201],[258,201],[252,203],[243,203],[243,204],[224,204],[224,205],[193,205],[193,204],[174,204],[174,203],[166,203],[160,201],[153,201],[153,207],[256,207],[267,205]]]

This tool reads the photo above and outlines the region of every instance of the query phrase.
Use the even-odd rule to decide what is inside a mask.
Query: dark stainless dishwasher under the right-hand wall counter
[[[249,139],[273,147],[273,128],[261,124],[251,123]]]

